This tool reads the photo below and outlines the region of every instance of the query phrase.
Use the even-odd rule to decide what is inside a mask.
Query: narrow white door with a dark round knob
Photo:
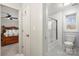
[[[23,4],[23,53],[30,55],[30,5]]]

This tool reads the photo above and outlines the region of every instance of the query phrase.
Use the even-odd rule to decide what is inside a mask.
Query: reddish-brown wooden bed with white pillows
[[[1,46],[18,43],[19,41],[19,30],[18,27],[1,27]]]

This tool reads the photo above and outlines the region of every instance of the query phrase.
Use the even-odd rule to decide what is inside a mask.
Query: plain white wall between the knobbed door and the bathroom
[[[41,56],[43,54],[43,18],[42,3],[31,5],[31,55]]]

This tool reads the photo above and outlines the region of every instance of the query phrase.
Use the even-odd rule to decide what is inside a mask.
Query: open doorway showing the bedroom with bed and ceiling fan
[[[1,6],[1,55],[13,56],[19,53],[18,10]]]

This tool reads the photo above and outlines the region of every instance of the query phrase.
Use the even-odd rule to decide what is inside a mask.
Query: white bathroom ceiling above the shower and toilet
[[[48,6],[48,15],[51,16],[52,14],[59,12],[60,10],[65,10],[70,7],[79,6],[78,3],[70,3],[65,5],[65,3],[47,3]]]

